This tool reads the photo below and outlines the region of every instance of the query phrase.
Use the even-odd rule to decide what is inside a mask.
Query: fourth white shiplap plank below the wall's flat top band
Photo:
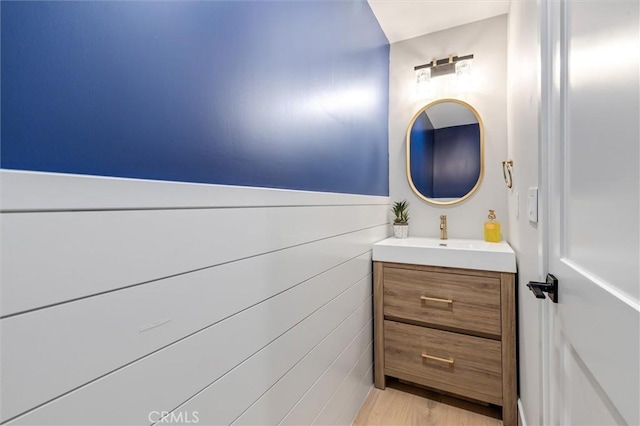
[[[204,424],[232,423],[246,407],[256,401],[336,326],[349,317],[354,306],[357,307],[370,299],[371,276],[368,276],[192,400],[178,407],[176,411],[198,411]],[[345,346],[346,343],[338,342]],[[275,423],[259,419],[256,424]]]

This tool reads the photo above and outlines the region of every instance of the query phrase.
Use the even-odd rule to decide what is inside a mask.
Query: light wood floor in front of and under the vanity
[[[373,388],[354,426],[502,426],[501,410],[431,392],[398,381]]]

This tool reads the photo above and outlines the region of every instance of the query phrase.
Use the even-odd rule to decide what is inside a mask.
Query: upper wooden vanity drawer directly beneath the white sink
[[[500,279],[386,266],[384,315],[500,336]]]

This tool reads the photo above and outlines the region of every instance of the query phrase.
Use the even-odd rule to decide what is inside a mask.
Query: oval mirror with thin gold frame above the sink
[[[407,129],[407,179],[413,192],[435,205],[473,195],[484,174],[484,126],[468,103],[439,99],[418,111]]]

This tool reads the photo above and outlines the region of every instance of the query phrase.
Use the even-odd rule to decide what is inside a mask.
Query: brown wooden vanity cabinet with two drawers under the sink
[[[374,262],[375,386],[386,376],[502,406],[517,424],[513,273]]]

